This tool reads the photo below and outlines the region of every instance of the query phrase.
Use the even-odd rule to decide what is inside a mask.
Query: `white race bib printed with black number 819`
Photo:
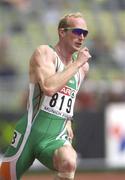
[[[69,118],[73,116],[75,98],[76,90],[65,86],[52,97],[45,96],[41,109],[59,117]]]

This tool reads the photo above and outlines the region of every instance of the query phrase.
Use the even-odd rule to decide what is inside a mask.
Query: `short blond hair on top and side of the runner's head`
[[[83,18],[83,15],[80,12],[76,12],[76,13],[70,13],[70,14],[67,14],[67,15],[63,16],[59,21],[58,29],[67,28],[70,25],[69,18],[71,18],[71,17],[73,17],[73,18]]]

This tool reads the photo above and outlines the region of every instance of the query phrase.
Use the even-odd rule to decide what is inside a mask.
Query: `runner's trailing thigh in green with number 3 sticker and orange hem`
[[[16,126],[11,144],[5,152],[1,165],[1,176],[5,180],[19,180],[34,161],[33,145],[23,118]]]

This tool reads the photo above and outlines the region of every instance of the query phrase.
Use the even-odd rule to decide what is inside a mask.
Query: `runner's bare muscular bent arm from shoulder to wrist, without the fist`
[[[48,46],[40,46],[36,49],[31,59],[31,65],[35,69],[35,76],[39,82],[42,91],[49,96],[52,96],[60,90],[67,81],[78,71],[88,58],[84,61],[75,61],[65,68],[62,72],[55,72],[54,59],[55,53]]]

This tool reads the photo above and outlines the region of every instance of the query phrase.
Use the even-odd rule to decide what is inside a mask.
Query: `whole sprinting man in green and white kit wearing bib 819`
[[[41,45],[29,65],[27,113],[17,123],[1,165],[2,180],[19,180],[37,158],[55,170],[55,180],[73,180],[77,155],[71,119],[77,92],[89,70],[88,34],[81,13],[64,16],[55,46]]]

